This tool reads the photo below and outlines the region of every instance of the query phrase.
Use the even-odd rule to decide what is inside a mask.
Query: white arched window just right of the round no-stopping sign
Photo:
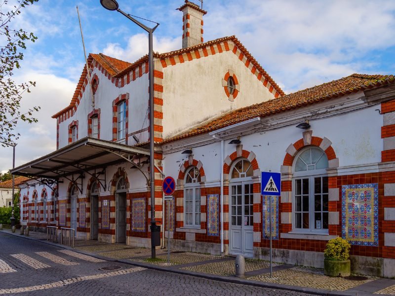
[[[185,174],[184,183],[184,225],[200,227],[200,171],[190,167]]]

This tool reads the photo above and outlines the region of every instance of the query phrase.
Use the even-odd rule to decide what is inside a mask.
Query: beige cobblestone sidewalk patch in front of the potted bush
[[[365,281],[351,281],[344,278],[326,276],[323,274],[323,269],[320,268],[300,266],[273,272],[272,278],[270,278],[270,274],[266,273],[250,277],[249,279],[276,284],[345,291],[377,279],[372,276],[366,277],[368,279]]]

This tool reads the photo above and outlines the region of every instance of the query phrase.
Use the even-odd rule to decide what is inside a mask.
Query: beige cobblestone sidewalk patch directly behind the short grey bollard
[[[277,263],[273,263],[273,266],[277,265]],[[245,272],[268,268],[269,266],[270,263],[268,261],[245,259]],[[234,260],[224,260],[197,266],[188,266],[182,269],[224,276],[231,276],[236,273]]]

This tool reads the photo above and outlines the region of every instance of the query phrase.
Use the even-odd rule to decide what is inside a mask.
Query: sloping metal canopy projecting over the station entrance
[[[97,178],[94,170],[104,169],[109,165],[127,161],[140,169],[138,158],[146,158],[150,150],[131,147],[115,142],[83,138],[64,148],[28,162],[11,170],[11,174],[59,180],[74,174],[87,173]],[[142,172],[143,173],[143,172]],[[145,178],[147,176],[143,173]],[[74,177],[72,178],[74,182]]]

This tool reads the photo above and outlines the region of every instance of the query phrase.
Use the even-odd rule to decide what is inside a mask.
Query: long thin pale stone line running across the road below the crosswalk
[[[87,275],[87,276],[80,276],[76,278],[71,278],[67,280],[61,280],[57,281],[54,283],[50,284],[43,284],[43,285],[37,285],[37,286],[30,286],[30,287],[24,287],[24,288],[14,288],[14,289],[1,289],[0,290],[0,295],[2,294],[11,294],[11,293],[23,293],[23,292],[31,292],[31,291],[39,291],[39,290],[46,290],[46,289],[52,289],[52,288],[60,288],[64,287],[70,284],[78,283],[78,282],[83,282],[83,281],[89,281],[89,280],[96,280],[96,279],[101,279],[101,278],[106,278],[106,277],[112,277],[112,276],[117,276],[117,275],[123,275],[123,274],[128,274],[136,271],[142,271],[147,268],[143,267],[134,267],[134,268],[129,268],[129,269],[122,269],[114,272],[108,272],[108,273],[100,273],[100,274],[95,274],[95,275]]]

